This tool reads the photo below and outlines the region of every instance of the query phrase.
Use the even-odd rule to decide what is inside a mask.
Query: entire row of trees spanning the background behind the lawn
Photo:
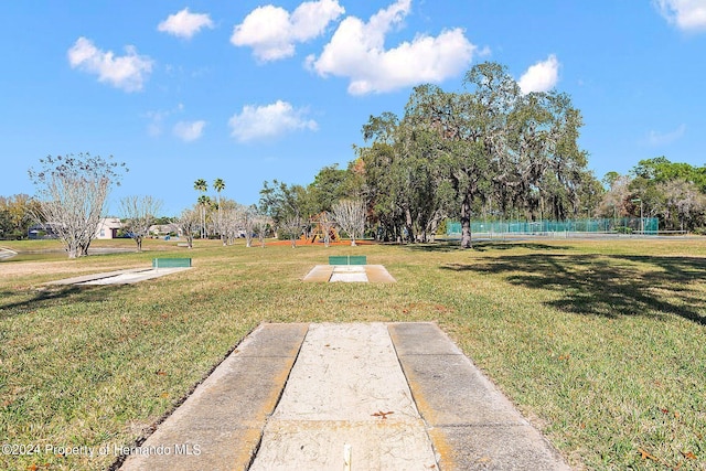
[[[471,246],[473,218],[644,216],[657,217],[663,231],[704,229],[706,167],[657,157],[599,181],[578,144],[581,126],[568,95],[523,94],[504,66],[482,63],[466,74],[461,92],[420,85],[402,116],[371,116],[362,126],[364,144],[354,147],[345,169],[324,167],[308,185],[266,181],[250,206],[223,197],[223,179],[212,184],[214,199],[197,179],[196,203],[174,221],[190,246],[194,237],[220,237],[224,245],[245,237],[250,246],[272,235],[296,245],[314,225],[327,227],[327,243],[335,225],[353,239],[366,231],[378,240],[428,242],[449,218],[461,222],[463,247]],[[85,255],[108,191],[127,168],[90,154],[40,163],[29,171],[35,197],[0,197],[0,238],[52,223],[69,256]],[[121,201],[138,250],[160,208],[150,196]]]

